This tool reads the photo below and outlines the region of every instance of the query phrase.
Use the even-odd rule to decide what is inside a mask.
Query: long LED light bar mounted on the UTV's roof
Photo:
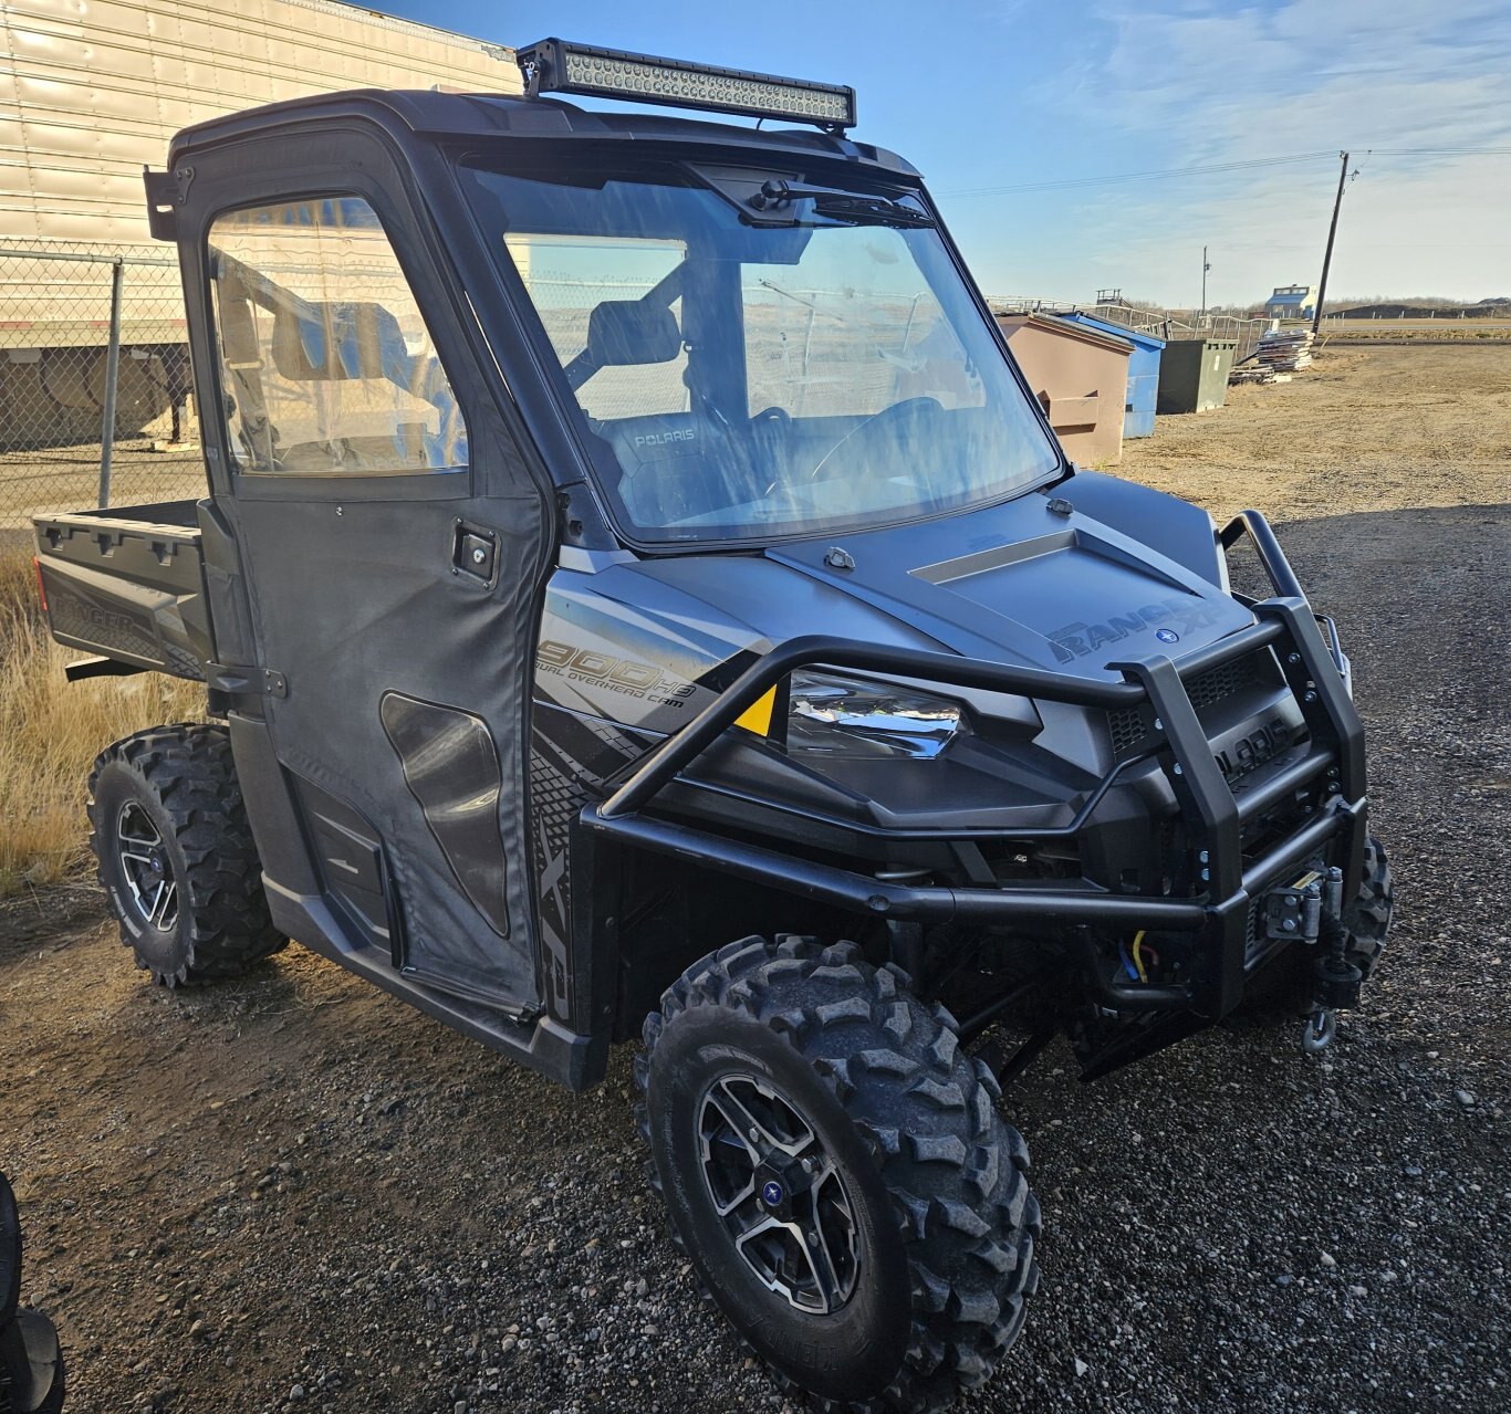
[[[831,133],[855,125],[855,89],[837,83],[748,74],[564,39],[542,39],[518,50],[515,59],[530,98],[541,94],[629,98],[748,118],[813,122]]]

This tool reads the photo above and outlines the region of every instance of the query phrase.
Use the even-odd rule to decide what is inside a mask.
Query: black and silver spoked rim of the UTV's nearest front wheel
[[[698,1106],[700,1168],[736,1254],[766,1290],[833,1316],[855,1293],[855,1209],[814,1125],[769,1079],[719,1076]]]

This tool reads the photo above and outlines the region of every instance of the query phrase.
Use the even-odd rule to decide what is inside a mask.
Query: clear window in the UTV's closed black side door
[[[467,465],[467,428],[378,213],[360,196],[210,227],[222,415],[236,468],[406,476]]]

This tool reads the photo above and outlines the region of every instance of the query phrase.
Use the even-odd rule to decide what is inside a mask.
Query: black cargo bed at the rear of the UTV
[[[192,500],[32,518],[53,636],[101,654],[70,677],[156,668],[204,680],[212,657]]]

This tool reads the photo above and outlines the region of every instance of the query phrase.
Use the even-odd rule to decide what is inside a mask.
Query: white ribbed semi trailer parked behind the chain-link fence
[[[113,281],[116,432],[178,432],[184,319],[142,168],[180,128],[335,89],[520,92],[509,48],[334,0],[6,0],[0,27],[0,450],[98,432]]]

